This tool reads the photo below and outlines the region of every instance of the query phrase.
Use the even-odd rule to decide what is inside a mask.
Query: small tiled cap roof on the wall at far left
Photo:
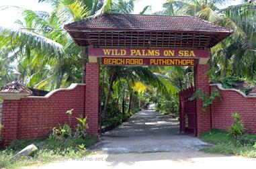
[[[0,93],[23,93],[32,95],[32,91],[19,82],[10,82],[0,88]]]

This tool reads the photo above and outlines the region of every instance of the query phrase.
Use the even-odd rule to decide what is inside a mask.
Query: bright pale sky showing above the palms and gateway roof
[[[37,3],[38,0],[0,0],[0,7],[9,5],[9,6],[18,6],[26,9],[32,9],[36,11],[50,11],[51,8],[48,4]],[[151,5],[151,12],[160,11],[163,3],[167,0],[137,0],[135,4],[134,13],[139,13],[146,5]],[[228,5],[237,5],[241,3],[241,0],[230,0]],[[16,27],[14,21],[20,18],[20,13],[17,12],[15,8],[9,8],[5,10],[0,9],[0,26],[5,27]]]

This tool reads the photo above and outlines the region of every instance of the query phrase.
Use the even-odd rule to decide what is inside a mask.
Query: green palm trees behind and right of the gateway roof
[[[234,30],[234,34],[212,48],[210,75],[255,77],[255,11],[249,3],[218,9],[227,1],[167,1],[163,15],[192,15]],[[255,3],[253,4],[255,5]],[[241,64],[242,63],[242,64]]]

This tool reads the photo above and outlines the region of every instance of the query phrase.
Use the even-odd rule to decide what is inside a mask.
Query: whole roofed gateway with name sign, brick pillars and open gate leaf
[[[210,48],[231,30],[189,16],[104,14],[65,25],[79,46],[89,46],[85,115],[88,133],[99,133],[99,64],[110,66],[194,66],[195,86],[180,93],[180,130],[198,135],[210,129],[210,110],[189,101],[198,89],[209,94]]]

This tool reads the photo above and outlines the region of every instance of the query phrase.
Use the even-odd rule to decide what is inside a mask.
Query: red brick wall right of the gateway
[[[211,91],[218,89],[211,87]],[[241,114],[248,132],[256,133],[256,97],[243,97],[236,91],[221,91],[222,101],[216,99],[212,104],[212,128],[229,129],[234,123],[231,115],[234,112]]]

